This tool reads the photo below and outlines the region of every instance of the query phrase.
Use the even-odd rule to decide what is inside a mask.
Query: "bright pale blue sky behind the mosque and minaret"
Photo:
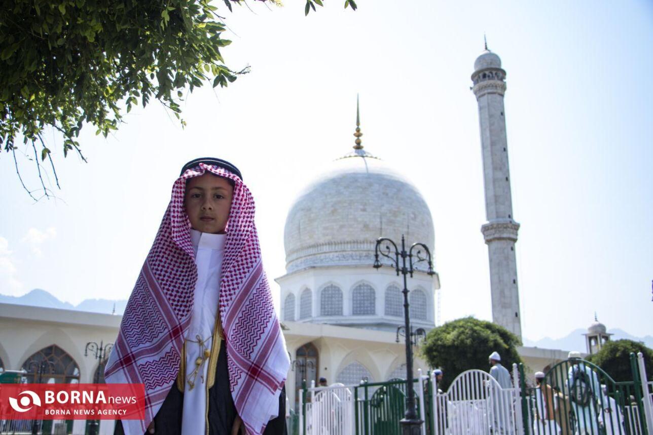
[[[64,160],[48,135],[61,200],[34,204],[2,153],[0,293],[43,288],[71,303],[127,298],[172,181],[202,155],[241,168],[257,200],[268,275],[283,275],[287,210],[318,168],[350,151],[360,93],[366,149],[406,173],[432,211],[443,320],[489,319],[470,91],[485,32],[507,71],[524,335],[562,337],[586,327],[595,310],[608,327],[650,333],[653,3],[358,0],[357,12],[341,1],[325,5],[308,17],[301,1],[221,11],[235,33],[223,55],[251,73],[228,89],[189,95],[185,130],[152,104],[108,140],[86,128],[88,164],[74,154]],[[27,164],[24,173],[35,187]]]

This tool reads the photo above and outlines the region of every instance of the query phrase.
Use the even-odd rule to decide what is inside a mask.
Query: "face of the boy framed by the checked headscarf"
[[[188,179],[183,204],[193,230],[224,233],[233,194],[234,188],[229,181],[212,173]]]

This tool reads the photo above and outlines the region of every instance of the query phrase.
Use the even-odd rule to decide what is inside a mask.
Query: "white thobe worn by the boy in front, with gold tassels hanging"
[[[182,435],[206,433],[206,376],[208,359],[195,378],[191,389],[187,376],[195,370],[195,360],[202,357],[197,336],[204,341],[204,349],[211,350],[212,335],[217,316],[218,290],[226,234],[202,233],[191,230],[191,240],[197,264],[197,284],[193,296],[191,324],[186,335],[185,382],[183,389]]]

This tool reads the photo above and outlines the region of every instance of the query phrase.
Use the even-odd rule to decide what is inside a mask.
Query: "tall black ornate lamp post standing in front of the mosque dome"
[[[384,245],[381,247],[381,245]],[[392,248],[390,248],[392,245]],[[422,249],[426,252],[426,257],[422,257]],[[413,253],[415,250],[415,253]],[[397,276],[401,273],[404,275],[404,335],[406,335],[406,414],[404,419],[400,422],[402,424],[402,434],[404,435],[419,435],[421,433],[421,425],[424,423],[417,418],[417,408],[415,406],[415,391],[413,390],[413,336],[417,333],[412,332],[410,325],[410,314],[408,312],[408,284],[407,276],[413,277],[415,272],[415,265],[421,262],[428,262],[428,275],[435,275],[433,270],[433,263],[431,261],[431,252],[424,243],[413,243],[408,250],[406,250],[406,239],[402,235],[402,248],[399,250],[396,243],[387,237],[379,237],[374,247],[374,268],[379,269],[382,266],[379,260],[379,254],[389,258]],[[401,263],[399,258],[401,257]],[[416,260],[415,260],[416,259]],[[420,328],[421,329],[421,328]],[[409,331],[409,332],[407,332]],[[397,338],[399,337],[399,330],[397,330]],[[424,331],[425,333],[426,331]]]

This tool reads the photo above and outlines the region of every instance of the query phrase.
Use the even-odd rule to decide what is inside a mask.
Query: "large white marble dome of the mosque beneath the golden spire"
[[[292,205],[284,230],[286,270],[371,265],[376,239],[401,243],[402,234],[407,245],[419,241],[433,253],[424,198],[386,162],[355,149],[331,162]]]

